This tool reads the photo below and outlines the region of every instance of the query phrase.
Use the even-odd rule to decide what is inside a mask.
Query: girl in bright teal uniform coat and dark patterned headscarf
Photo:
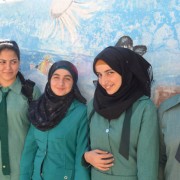
[[[21,159],[21,180],[89,180],[81,166],[87,147],[86,100],[69,61],[52,65],[44,94],[31,103],[32,123]]]

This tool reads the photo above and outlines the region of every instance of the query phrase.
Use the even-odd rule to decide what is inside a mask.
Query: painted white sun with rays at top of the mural
[[[61,39],[70,37],[72,41],[77,39],[77,29],[81,20],[87,20],[99,10],[98,3],[93,1],[78,2],[75,0],[52,0],[50,7],[51,24],[50,36],[59,34]],[[65,35],[66,34],[66,35]]]

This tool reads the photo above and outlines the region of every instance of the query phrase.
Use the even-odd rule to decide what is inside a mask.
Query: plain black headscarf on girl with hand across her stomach
[[[122,76],[122,85],[116,93],[109,95],[97,83],[93,102],[96,112],[106,119],[115,119],[142,95],[150,97],[152,68],[142,56],[127,48],[107,47],[94,59],[95,74],[95,65],[100,59]]]

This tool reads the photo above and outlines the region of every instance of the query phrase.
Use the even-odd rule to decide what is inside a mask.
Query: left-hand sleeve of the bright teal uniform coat
[[[31,180],[37,148],[38,147],[34,138],[34,127],[31,125],[26,136],[24,149],[21,156],[20,180]]]

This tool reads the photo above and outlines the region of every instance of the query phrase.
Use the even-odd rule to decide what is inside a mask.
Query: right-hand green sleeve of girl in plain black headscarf
[[[137,146],[138,180],[157,180],[159,161],[159,126],[152,101],[145,104]]]

